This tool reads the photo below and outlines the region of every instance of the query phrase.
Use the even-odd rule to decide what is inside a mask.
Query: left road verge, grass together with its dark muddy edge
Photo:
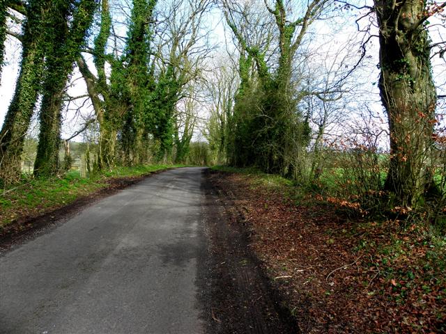
[[[28,178],[0,195],[0,252],[13,244],[65,221],[86,205],[110,196],[172,165],[114,168],[83,178],[78,173],[61,177]]]

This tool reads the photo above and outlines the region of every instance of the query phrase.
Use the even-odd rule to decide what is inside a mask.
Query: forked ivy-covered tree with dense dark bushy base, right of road
[[[304,150],[309,138],[309,126],[305,118],[299,114],[297,105],[309,92],[302,92],[298,98],[293,94],[291,74],[293,58],[298,47],[302,44],[309,26],[318,19],[327,6],[327,0],[313,0],[305,6],[298,19],[290,19],[291,9],[287,8],[283,0],[265,0],[264,6],[271,17],[257,16],[252,23],[249,13],[249,3],[241,6],[237,1],[223,1],[226,22],[233,31],[240,45],[240,91],[236,96],[234,117],[238,125],[234,143],[243,146],[238,152],[243,153],[235,157],[234,162],[239,165],[257,164],[263,170],[282,175],[298,173],[295,166],[295,155]],[[272,20],[271,20],[272,18]],[[245,27],[270,26],[263,38],[252,37]],[[274,26],[274,29],[272,28]],[[267,61],[270,45],[277,43],[277,63]],[[256,76],[254,81],[247,77],[249,67],[254,63]],[[244,79],[245,77],[246,79]],[[246,111],[246,105],[251,103],[247,86],[251,92],[255,90],[255,102],[252,112]],[[243,113],[245,116],[243,116]],[[241,117],[241,118],[240,118]],[[237,118],[239,118],[237,120]]]

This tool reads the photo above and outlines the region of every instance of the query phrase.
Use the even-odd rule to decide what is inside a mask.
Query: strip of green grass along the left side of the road
[[[0,232],[21,216],[38,216],[104,189],[110,179],[137,177],[176,167],[184,165],[117,167],[86,178],[80,177],[78,171],[71,171],[63,177],[38,179],[24,175],[20,184],[14,184],[0,193]]]

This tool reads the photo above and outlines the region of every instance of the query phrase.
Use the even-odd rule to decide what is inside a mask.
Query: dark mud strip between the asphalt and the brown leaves
[[[243,215],[230,194],[213,186],[213,172],[204,173],[208,258],[200,261],[204,270],[199,273],[206,278],[199,278],[199,285],[205,285],[201,299],[207,305],[207,333],[300,333],[249,247]]]

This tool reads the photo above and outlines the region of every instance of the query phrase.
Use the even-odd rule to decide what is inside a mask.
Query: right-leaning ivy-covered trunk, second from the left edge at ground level
[[[40,106],[40,134],[34,175],[54,175],[59,168],[63,93],[75,60],[79,57],[98,1],[54,1],[57,15],[49,29],[45,81]]]

